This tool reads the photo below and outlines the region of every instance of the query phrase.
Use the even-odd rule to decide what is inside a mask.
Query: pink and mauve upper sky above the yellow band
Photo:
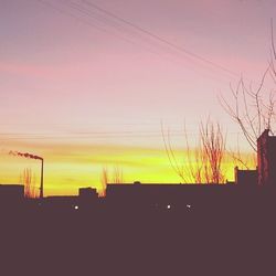
[[[267,66],[275,1],[91,2],[248,81],[259,79]],[[160,120],[176,130],[185,120],[194,134],[209,115],[235,139],[238,129],[216,96],[230,94],[229,83],[237,77],[106,14],[98,22],[70,3],[103,17],[77,0],[0,3],[2,144],[7,134],[44,134],[71,135],[77,145],[79,132],[104,131],[108,137],[93,137],[91,144],[162,148]],[[124,131],[132,135],[114,135]],[[146,136],[135,137],[139,134]]]

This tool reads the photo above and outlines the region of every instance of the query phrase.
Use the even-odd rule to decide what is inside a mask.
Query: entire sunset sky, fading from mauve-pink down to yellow
[[[24,168],[39,182],[39,162],[9,150],[45,159],[45,194],[99,187],[104,167],[179,182],[161,121],[179,157],[183,125],[193,141],[209,116],[248,150],[217,96],[241,75],[258,83],[275,11],[275,0],[1,0],[0,183]]]

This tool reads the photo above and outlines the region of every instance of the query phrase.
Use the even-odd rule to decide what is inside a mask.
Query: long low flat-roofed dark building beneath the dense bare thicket
[[[107,184],[106,202],[113,210],[191,211],[232,208],[235,184],[117,183]]]

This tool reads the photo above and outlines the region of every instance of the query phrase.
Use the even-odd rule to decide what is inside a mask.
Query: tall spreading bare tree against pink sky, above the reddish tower
[[[265,129],[274,134],[275,128],[275,94],[276,89],[266,87],[266,79],[270,76],[276,84],[276,51],[272,21],[270,62],[265,70],[258,85],[247,84],[244,77],[233,87],[230,85],[232,99],[220,96],[223,109],[240,126],[251,148],[257,151],[257,138]]]

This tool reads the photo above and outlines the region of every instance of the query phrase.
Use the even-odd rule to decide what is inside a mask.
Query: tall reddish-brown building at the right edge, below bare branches
[[[258,184],[272,185],[276,182],[276,136],[266,129],[257,139]]]

